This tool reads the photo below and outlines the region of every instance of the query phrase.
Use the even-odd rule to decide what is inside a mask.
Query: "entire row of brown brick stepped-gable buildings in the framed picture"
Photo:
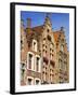
[[[47,16],[43,25],[27,27],[21,22],[21,85],[69,82],[69,53],[63,27],[52,30]]]

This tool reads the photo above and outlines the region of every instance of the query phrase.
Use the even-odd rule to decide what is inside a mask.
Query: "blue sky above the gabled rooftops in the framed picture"
[[[26,27],[26,19],[31,18],[31,27],[43,25],[47,13],[44,12],[21,12],[21,19],[24,20]],[[68,13],[50,13],[50,19],[53,30],[60,30],[63,26],[65,29],[66,42],[69,50],[69,14]]]

